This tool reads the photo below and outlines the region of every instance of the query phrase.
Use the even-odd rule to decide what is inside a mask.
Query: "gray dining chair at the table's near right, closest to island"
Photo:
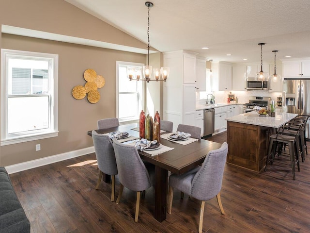
[[[225,214],[220,199],[220,190],[222,187],[227,153],[228,144],[224,142],[219,149],[211,150],[207,154],[202,166],[197,166],[181,175],[171,174],[169,177],[167,212],[171,214],[173,188],[181,191],[181,197],[182,193],[186,193],[190,197],[201,200],[199,233],[202,233],[204,203],[206,200],[211,200],[214,197],[217,197],[217,203],[221,213]]]

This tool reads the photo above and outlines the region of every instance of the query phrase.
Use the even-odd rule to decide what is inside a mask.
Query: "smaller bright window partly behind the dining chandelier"
[[[116,116],[120,122],[139,120],[144,106],[144,81],[129,81],[127,66],[142,68],[143,64],[116,62]]]

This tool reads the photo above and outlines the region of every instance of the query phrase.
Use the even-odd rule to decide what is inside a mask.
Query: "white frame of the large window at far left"
[[[8,60],[9,58],[39,59],[49,62],[49,126],[44,130],[8,133]],[[58,136],[58,54],[1,49],[1,141],[0,146]]]

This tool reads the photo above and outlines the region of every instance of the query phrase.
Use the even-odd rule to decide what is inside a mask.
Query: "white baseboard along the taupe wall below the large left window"
[[[20,164],[5,166],[5,169],[7,170],[9,174],[12,174],[12,173],[16,173],[19,171],[24,171],[24,170],[28,170],[31,168],[35,168],[38,166],[44,166],[47,164],[60,162],[66,159],[75,158],[75,157],[82,156],[85,154],[90,154],[93,152],[95,152],[94,147],[88,147],[88,148],[84,148],[80,150],[73,150],[73,151],[62,153],[62,154],[56,154],[56,155],[44,157],[42,159],[35,159],[35,160],[27,161],[24,163],[20,163]]]

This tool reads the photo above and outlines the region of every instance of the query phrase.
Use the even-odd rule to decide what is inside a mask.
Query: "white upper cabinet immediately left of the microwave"
[[[233,66],[232,90],[247,90],[247,66]]]

